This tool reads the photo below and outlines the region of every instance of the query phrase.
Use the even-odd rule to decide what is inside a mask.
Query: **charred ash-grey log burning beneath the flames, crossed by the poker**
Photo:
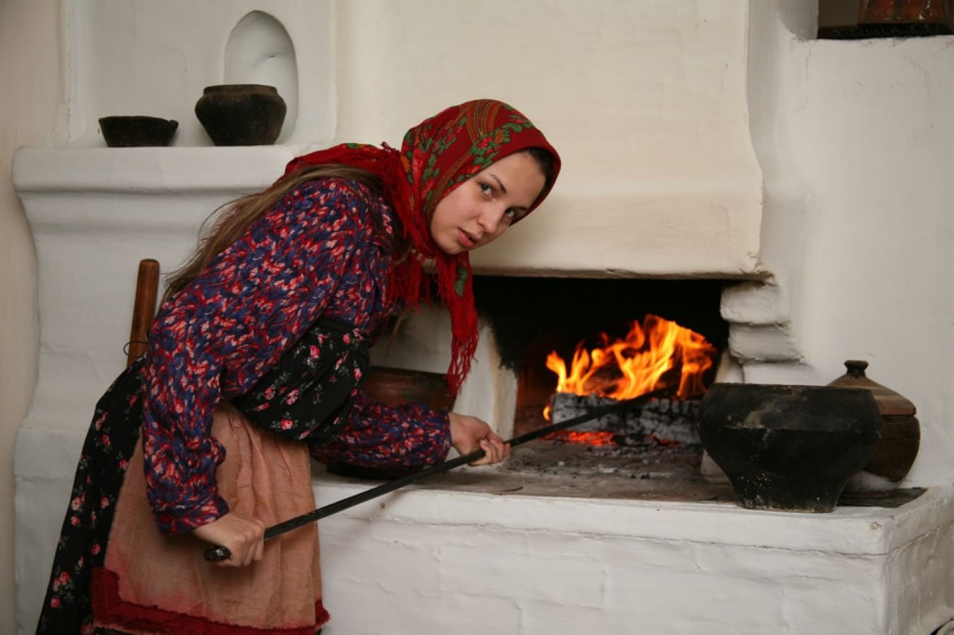
[[[551,399],[551,417],[553,422],[570,420],[595,408],[611,405],[615,401],[595,395],[581,397],[570,393],[555,393]],[[698,399],[651,399],[641,409],[591,420],[578,426],[576,430],[590,433],[608,432],[617,444],[627,446],[673,442],[699,445],[696,431],[699,404]]]

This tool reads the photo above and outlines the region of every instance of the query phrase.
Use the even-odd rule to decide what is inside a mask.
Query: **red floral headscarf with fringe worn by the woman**
[[[432,259],[441,302],[450,311],[452,332],[447,386],[457,395],[477,350],[477,311],[474,308],[467,253],[450,256],[430,235],[437,204],[468,178],[508,154],[541,148],[553,157],[553,175],[530,206],[532,212],[553,187],[560,172],[559,154],[523,114],[493,99],[451,106],[404,134],[401,152],[383,144],[342,144],[293,159],[285,174],[313,165],[338,163],[376,174],[384,195],[401,219],[404,237],[414,245],[412,256],[391,272],[389,295],[417,307],[425,296],[424,263]],[[423,295],[424,292],[424,295]]]

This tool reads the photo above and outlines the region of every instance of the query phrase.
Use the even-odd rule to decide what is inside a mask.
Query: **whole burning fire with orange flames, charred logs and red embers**
[[[716,347],[701,335],[673,321],[648,315],[633,321],[625,338],[576,345],[567,364],[555,351],[547,368],[556,374],[556,392],[544,417],[568,420],[613,399],[633,399],[658,389],[672,389],[672,399],[653,399],[642,409],[583,424],[551,440],[589,445],[695,445],[695,416],[705,392],[706,371],[713,368]]]

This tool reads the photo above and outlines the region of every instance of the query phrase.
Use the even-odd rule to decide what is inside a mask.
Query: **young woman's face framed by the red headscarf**
[[[430,219],[434,242],[450,255],[483,247],[528,213],[545,180],[529,153],[508,154],[441,199]]]

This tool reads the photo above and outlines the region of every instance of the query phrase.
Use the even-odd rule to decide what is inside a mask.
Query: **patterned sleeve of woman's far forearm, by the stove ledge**
[[[445,410],[423,403],[388,406],[362,390],[338,438],[309,449],[312,458],[323,463],[436,465],[450,450],[450,420]]]

